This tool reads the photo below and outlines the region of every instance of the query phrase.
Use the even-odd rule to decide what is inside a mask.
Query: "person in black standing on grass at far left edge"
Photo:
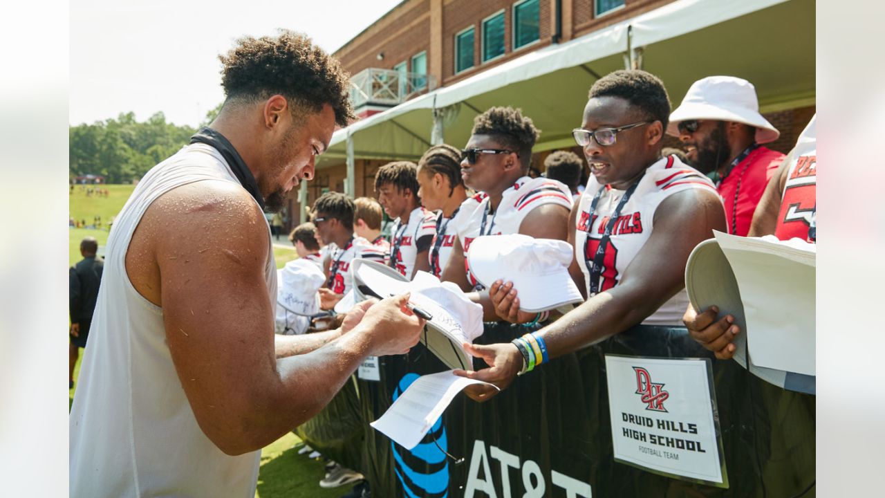
[[[104,261],[96,256],[98,242],[95,237],[81,240],[80,254],[83,259],[68,272],[68,291],[71,311],[71,343],[68,346],[68,387],[73,387],[73,366],[80,356],[80,348],[86,347],[92,315],[96,310],[98,287],[102,282]]]

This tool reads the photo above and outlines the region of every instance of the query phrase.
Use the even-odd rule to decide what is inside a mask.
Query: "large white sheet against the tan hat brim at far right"
[[[815,249],[798,239],[713,235],[741,290],[753,363],[815,375]]]

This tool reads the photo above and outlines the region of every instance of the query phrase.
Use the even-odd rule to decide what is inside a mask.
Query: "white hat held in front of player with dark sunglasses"
[[[561,240],[527,235],[476,237],[467,251],[473,276],[489,288],[496,280],[510,281],[519,308],[528,313],[583,302],[568,273],[572,246]]]

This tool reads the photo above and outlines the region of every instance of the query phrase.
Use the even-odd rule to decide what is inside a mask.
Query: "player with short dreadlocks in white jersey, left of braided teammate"
[[[417,170],[413,162],[396,161],[375,173],[378,202],[394,220],[388,265],[409,280],[418,270],[430,271],[428,253],[436,230],[436,215],[421,206]]]

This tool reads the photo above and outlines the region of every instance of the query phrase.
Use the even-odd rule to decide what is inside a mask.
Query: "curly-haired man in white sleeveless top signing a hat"
[[[152,168],[114,222],[70,415],[71,496],[251,498],[262,447],[319,412],[367,355],[418,341],[407,296],[359,308],[342,330],[273,334],[262,211],[312,178],[347,125],[347,77],[290,32],[243,38],[221,61],[218,118]]]

